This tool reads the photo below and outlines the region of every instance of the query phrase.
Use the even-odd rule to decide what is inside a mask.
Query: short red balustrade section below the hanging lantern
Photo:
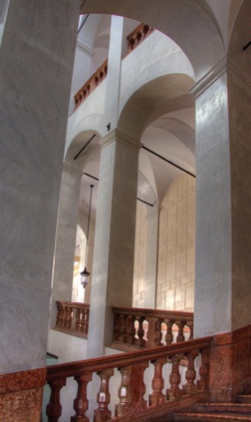
[[[87,338],[89,324],[89,304],[77,302],[57,302],[58,314],[55,329]]]

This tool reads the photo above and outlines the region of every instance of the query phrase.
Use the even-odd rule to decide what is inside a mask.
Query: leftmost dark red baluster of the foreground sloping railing
[[[51,386],[51,398],[46,406],[46,415],[48,416],[48,422],[58,422],[62,413],[60,390],[67,384],[67,379],[53,379],[52,381],[49,381],[48,384]]]

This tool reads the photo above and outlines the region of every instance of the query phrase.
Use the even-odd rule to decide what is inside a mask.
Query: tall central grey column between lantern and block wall
[[[118,130],[101,142],[87,356],[112,339],[111,306],[131,306],[140,142]]]

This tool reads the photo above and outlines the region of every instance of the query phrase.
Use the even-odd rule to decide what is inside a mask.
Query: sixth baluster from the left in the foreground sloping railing
[[[164,388],[164,379],[162,377],[163,365],[167,362],[167,358],[152,361],[154,365],[154,377],[152,381],[153,394],[149,395],[150,406],[158,406],[166,401],[166,397],[162,394]]]

